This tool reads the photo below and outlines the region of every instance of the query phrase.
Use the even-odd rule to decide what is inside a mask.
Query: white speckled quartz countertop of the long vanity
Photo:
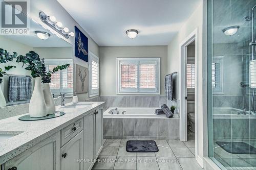
[[[16,136],[0,141],[0,164],[23,153],[35,144],[54,135],[95,109],[102,107],[104,103],[105,102],[79,102],[79,104],[91,104],[82,109],[63,109],[61,108],[63,106],[56,106],[56,111],[63,111],[66,114],[45,120],[18,120],[19,117],[28,113],[0,120],[0,135],[17,134]],[[72,103],[66,104],[66,106],[68,105],[72,105]]]

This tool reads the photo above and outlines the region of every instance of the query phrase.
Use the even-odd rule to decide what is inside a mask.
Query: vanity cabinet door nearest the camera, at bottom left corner
[[[27,151],[7,161],[4,170],[59,170],[59,133],[34,145]]]

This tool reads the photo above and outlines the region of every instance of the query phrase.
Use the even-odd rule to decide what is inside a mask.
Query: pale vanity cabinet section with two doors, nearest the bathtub
[[[99,155],[103,140],[102,109],[97,109],[84,117],[84,170],[91,169]]]

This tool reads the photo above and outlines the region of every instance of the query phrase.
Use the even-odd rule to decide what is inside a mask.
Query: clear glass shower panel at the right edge
[[[207,0],[209,157],[256,169],[256,0]]]

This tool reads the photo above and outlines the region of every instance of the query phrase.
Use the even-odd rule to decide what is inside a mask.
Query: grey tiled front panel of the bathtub
[[[177,118],[104,118],[104,139],[179,139]]]

